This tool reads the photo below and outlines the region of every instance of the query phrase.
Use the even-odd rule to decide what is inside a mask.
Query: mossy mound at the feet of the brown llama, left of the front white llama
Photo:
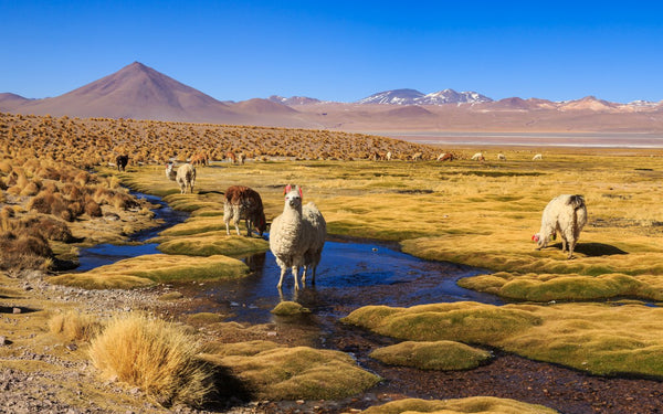
[[[234,229],[233,229],[234,232]],[[183,254],[190,256],[240,256],[266,252],[270,243],[261,237],[227,235],[225,230],[208,232],[191,236],[159,237],[159,251],[167,254]]]

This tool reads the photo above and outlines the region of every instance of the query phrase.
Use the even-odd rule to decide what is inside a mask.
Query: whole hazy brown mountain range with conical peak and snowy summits
[[[270,96],[218,100],[139,62],[66,94],[29,99],[0,93],[0,112],[261,125],[362,132],[663,132],[663,102],[611,103],[593,96],[567,102],[477,92],[415,89],[376,93],[355,103]],[[393,134],[391,134],[393,135]]]

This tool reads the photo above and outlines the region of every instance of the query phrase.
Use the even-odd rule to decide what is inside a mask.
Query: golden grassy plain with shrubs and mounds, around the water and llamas
[[[9,114],[0,138],[7,410],[349,412],[367,408],[352,396],[379,386],[382,368],[408,364],[423,375],[425,363],[456,355],[444,370],[471,374],[456,364],[482,354],[483,368],[505,354],[568,368],[579,375],[573,396],[585,405],[565,394],[525,392],[515,401],[483,390],[446,402],[381,395],[367,412],[657,407],[651,395],[661,395],[663,379],[662,149],[432,146],[327,130]],[[230,163],[228,151],[249,159]],[[484,161],[471,160],[477,151]],[[199,152],[212,163],[197,168],[193,194],[179,194],[164,163]],[[376,152],[393,159],[372,160]],[[417,152],[423,160],[412,161]],[[435,161],[441,152],[455,159]],[[112,166],[122,153],[130,157],[126,171]],[[534,161],[535,153],[543,159]],[[278,319],[248,326],[232,315],[190,314],[191,298],[172,286],[245,277],[236,257],[267,248],[257,237],[225,235],[222,192],[232,184],[257,190],[271,221],[286,183],[305,189],[329,234],[396,242],[419,257],[486,269],[459,284],[511,304],[354,309],[339,323],[400,343],[376,352],[370,371],[345,352],[317,349],[315,338]],[[126,188],[164,197],[191,217],[161,233],[160,255],[85,273],[59,269],[75,263],[80,246],[122,243],[150,225],[150,205]],[[561,193],[583,194],[589,212],[570,261],[558,243],[535,251],[530,241],[544,206]],[[59,209],[46,209],[55,202]],[[175,357],[126,362],[124,349]],[[582,378],[614,383],[612,399],[596,400]],[[651,395],[635,393],[642,380]],[[389,400],[398,401],[383,405]]]

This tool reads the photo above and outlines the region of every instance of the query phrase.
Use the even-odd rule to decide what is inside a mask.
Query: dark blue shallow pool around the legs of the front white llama
[[[320,317],[338,318],[366,305],[413,306],[432,302],[475,300],[502,301],[492,296],[456,286],[465,276],[485,273],[474,267],[429,262],[390,248],[385,244],[330,240],[325,243],[315,284],[311,277],[297,291],[292,273],[283,288],[276,288],[280,268],[271,252],[244,259],[250,276],[219,283],[206,283],[198,294],[207,298],[192,311],[221,311],[232,320],[263,323],[281,300],[294,300]]]

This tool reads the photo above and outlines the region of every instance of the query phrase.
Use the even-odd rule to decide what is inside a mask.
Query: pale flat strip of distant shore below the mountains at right
[[[663,134],[645,132],[472,132],[380,131],[370,132],[428,145],[509,147],[591,147],[663,149]]]

